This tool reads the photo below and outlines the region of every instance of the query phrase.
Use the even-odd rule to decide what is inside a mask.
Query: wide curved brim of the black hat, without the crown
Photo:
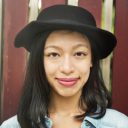
[[[91,44],[97,48],[99,58],[107,57],[116,45],[116,37],[103,29],[90,25],[71,23],[71,22],[39,22],[32,21],[22,29],[15,38],[16,47],[24,47],[30,51],[34,39],[46,31],[53,30],[74,30],[85,34]]]

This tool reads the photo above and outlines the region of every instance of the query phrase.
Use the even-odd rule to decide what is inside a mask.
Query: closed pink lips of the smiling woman
[[[65,86],[65,87],[72,87],[74,86],[79,78],[57,78],[58,83]]]

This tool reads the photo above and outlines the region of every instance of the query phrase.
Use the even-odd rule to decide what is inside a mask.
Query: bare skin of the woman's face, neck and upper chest
[[[52,128],[80,128],[82,122],[74,116],[84,113],[79,99],[92,67],[88,38],[78,32],[52,32],[45,45],[44,67],[51,86]]]

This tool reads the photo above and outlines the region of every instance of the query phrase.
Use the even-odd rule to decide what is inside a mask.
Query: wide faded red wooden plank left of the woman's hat
[[[4,0],[3,76],[1,120],[16,113],[23,81],[26,53],[14,48],[15,34],[27,21],[27,0]]]

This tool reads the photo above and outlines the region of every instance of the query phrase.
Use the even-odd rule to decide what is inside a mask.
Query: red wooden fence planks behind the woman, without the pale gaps
[[[55,4],[66,4],[67,0],[42,0],[42,8]],[[3,50],[3,83],[1,94],[1,121],[16,114],[24,69],[26,52],[15,49],[13,40],[15,34],[28,22],[29,0],[4,0],[4,50]],[[90,10],[96,18],[98,26],[101,26],[102,0],[79,0],[79,6]],[[113,107],[128,114],[128,80],[127,80],[127,59],[126,50],[128,47],[128,1],[116,1],[116,35],[118,36],[118,47],[114,52],[113,60]]]

